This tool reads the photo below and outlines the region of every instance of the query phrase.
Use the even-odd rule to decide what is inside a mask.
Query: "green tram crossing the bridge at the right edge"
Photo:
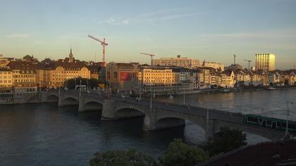
[[[285,131],[286,120],[280,120],[272,117],[261,115],[247,114],[244,116],[244,123],[257,125],[269,129],[279,129]],[[288,120],[288,132],[296,133],[296,122]]]

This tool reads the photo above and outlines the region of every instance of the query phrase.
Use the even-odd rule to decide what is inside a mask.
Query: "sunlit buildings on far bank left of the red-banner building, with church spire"
[[[76,77],[99,79],[101,63],[85,64],[73,58],[70,50],[69,58],[63,60],[45,59],[40,63],[27,60],[6,60],[0,67],[0,87],[65,87],[67,79]],[[101,75],[104,76],[104,73]]]

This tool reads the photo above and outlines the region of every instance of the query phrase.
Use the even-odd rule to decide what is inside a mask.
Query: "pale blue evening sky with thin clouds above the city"
[[[0,0],[0,54],[149,63],[183,57],[247,68],[275,53],[276,68],[296,64],[296,0]]]

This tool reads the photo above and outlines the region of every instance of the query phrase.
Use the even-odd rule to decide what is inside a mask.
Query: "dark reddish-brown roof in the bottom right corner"
[[[296,165],[296,141],[278,141],[258,143],[245,146],[229,153],[212,158],[197,166],[209,165],[260,165],[276,166],[285,162],[286,165]],[[288,163],[288,164],[287,164]]]

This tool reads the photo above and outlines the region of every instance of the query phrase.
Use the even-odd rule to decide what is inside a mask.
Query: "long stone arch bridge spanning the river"
[[[98,94],[82,93],[79,95],[75,91],[45,91],[42,92],[43,102],[58,101],[58,106],[78,105],[78,111],[101,110],[101,120],[120,120],[132,117],[149,117],[149,129],[167,129],[185,125],[185,120],[190,121],[204,129],[206,139],[219,132],[221,127],[230,129],[240,129],[243,132],[257,134],[272,141],[283,137],[284,132],[277,129],[269,129],[243,122],[244,116],[241,113],[229,113],[221,110],[209,109],[207,116],[206,108],[185,107],[173,103],[152,102],[150,108],[149,101],[135,101],[135,98],[125,98],[118,96],[103,98]],[[206,118],[209,117],[209,118]],[[296,135],[296,134],[292,134]]]

